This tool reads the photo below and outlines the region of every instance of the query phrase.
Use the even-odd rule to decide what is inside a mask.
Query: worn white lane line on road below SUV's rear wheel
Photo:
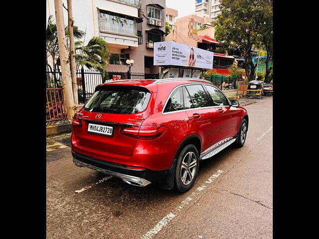
[[[142,237],[142,239],[151,239],[155,235],[157,235],[160,232],[160,230],[162,230],[163,227],[165,227],[174,217],[178,215],[178,212],[180,212],[183,208],[185,208],[186,205],[189,204],[190,201],[193,200],[192,198],[193,196],[200,194],[208,186],[207,184],[212,183],[222,173],[223,173],[222,170],[218,170],[216,174],[213,174],[212,176],[210,176],[202,186],[198,187],[194,192],[191,193],[190,196],[186,197],[185,200],[183,200],[179,204],[179,206],[177,206],[173,211],[171,211],[165,217],[163,217],[160,220],[160,222],[157,225],[155,225],[153,229],[151,229]]]

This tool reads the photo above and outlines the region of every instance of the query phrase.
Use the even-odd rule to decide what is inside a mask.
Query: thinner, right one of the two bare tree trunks
[[[79,105],[78,102],[78,85],[76,82],[76,64],[75,64],[75,44],[73,35],[73,20],[72,20],[72,0],[67,0],[68,3],[68,30],[69,30],[69,40],[70,40],[70,68],[72,77],[72,91],[74,104]]]

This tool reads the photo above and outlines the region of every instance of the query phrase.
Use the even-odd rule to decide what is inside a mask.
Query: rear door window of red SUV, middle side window
[[[202,85],[190,85],[186,86],[186,89],[192,99],[194,108],[212,106],[211,100]]]

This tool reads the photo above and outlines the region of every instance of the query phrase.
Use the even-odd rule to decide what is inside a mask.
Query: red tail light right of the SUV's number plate
[[[166,127],[164,125],[130,126],[123,127],[121,133],[140,139],[155,139],[159,137]]]

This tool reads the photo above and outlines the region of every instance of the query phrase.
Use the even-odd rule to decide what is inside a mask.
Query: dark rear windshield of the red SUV
[[[151,93],[143,87],[106,86],[98,88],[85,104],[91,112],[128,115],[144,111]]]

